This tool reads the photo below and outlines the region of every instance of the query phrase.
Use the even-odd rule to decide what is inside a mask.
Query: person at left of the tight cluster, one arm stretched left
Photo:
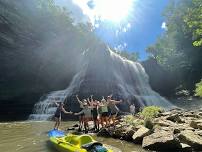
[[[91,119],[91,108],[90,106],[88,106],[87,102],[84,102],[83,106],[84,106],[83,110],[81,110],[78,113],[74,113],[74,115],[80,115],[84,113],[84,129],[85,129],[85,132],[87,133],[89,130],[88,122]]]

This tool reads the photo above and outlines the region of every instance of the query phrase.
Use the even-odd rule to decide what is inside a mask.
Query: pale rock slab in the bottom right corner
[[[186,143],[196,150],[202,150],[202,137],[197,133],[185,130],[179,134],[178,138],[180,142]]]

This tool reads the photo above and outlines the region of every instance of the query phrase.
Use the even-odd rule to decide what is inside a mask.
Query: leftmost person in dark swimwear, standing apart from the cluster
[[[64,109],[64,104],[62,102],[55,102],[55,105],[57,106],[57,110],[55,112],[55,125],[54,125],[54,129],[55,130],[58,130],[59,129],[59,126],[60,126],[60,123],[61,123],[61,113],[64,112],[65,114],[72,114],[72,112],[67,112],[65,109]]]

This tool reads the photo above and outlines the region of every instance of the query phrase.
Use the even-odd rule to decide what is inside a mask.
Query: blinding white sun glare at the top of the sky
[[[134,0],[74,0],[91,20],[120,22],[127,18]],[[91,2],[91,7],[88,6]]]

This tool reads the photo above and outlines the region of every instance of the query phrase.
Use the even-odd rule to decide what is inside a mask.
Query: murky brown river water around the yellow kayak
[[[63,122],[61,129],[74,122]],[[56,152],[48,142],[47,131],[54,122],[9,122],[0,123],[0,151],[2,152]],[[111,145],[115,152],[146,152],[139,145],[112,138],[95,137],[96,140]],[[117,150],[120,149],[120,150]]]

